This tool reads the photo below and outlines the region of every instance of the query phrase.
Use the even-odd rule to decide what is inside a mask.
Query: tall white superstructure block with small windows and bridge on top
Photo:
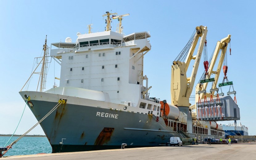
[[[80,34],[76,43],[52,43],[57,49],[52,47],[51,56],[61,58],[60,87],[103,91],[113,103],[136,106],[139,98],[148,98],[139,93],[148,89],[143,56],[151,49],[149,37],[147,32],[105,31]]]

